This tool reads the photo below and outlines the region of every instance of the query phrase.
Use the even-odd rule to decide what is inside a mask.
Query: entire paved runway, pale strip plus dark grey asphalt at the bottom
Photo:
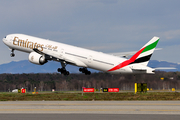
[[[52,119],[67,118],[88,120],[103,118],[108,119],[110,116],[113,119],[153,119],[163,117],[180,118],[180,101],[7,101],[0,102],[0,117],[26,116],[32,119],[32,116],[37,118],[44,117],[46,120],[50,116]],[[49,117],[48,117],[49,116]],[[53,118],[55,117],[55,118]],[[79,118],[80,117],[80,118]],[[6,119],[6,120],[9,120]],[[19,118],[20,119],[20,118]],[[49,118],[50,119],[50,118]],[[110,119],[110,118],[109,118]]]

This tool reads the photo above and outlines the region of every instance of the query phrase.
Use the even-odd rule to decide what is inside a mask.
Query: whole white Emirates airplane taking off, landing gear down
[[[50,60],[60,62],[61,68],[57,71],[63,75],[70,74],[66,70],[68,64],[80,67],[79,71],[85,75],[91,74],[87,68],[111,74],[154,74],[156,69],[147,65],[159,37],[153,37],[134,55],[128,52],[119,55],[106,54],[25,34],[9,34],[3,38],[3,42],[10,48],[11,57],[15,56],[14,50],[18,50],[29,53],[29,61],[37,65],[43,65]],[[132,57],[126,58],[129,55]]]

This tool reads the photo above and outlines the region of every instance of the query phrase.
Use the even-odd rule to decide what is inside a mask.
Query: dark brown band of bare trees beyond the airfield
[[[162,79],[164,78],[164,80]],[[134,83],[147,83],[154,90],[180,89],[180,72],[156,72],[148,74],[108,74],[93,73],[91,75],[71,74],[64,76],[59,73],[39,74],[0,74],[0,91],[26,88],[27,92],[37,91],[81,91],[86,88],[119,88],[134,90]]]

